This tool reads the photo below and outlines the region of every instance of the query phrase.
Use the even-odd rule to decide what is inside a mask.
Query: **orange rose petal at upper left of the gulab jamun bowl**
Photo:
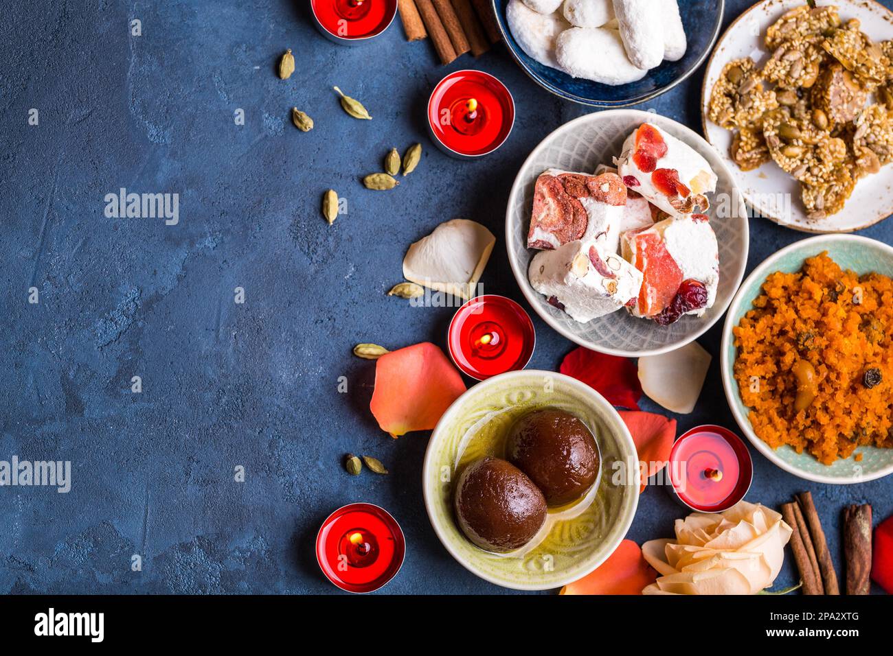
[[[434,428],[464,391],[462,376],[444,352],[423,342],[385,353],[375,362],[369,409],[381,430],[398,437]]]

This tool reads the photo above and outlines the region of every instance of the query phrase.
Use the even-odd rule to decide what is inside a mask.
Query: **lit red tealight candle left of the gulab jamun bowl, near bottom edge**
[[[371,593],[388,583],[403,565],[405,552],[396,519],[371,503],[339,508],[316,536],[316,560],[322,573],[351,593]]]

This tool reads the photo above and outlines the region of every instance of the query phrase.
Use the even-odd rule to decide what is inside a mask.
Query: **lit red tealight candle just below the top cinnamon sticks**
[[[428,123],[448,154],[478,157],[503,144],[514,125],[514,100],[483,71],[455,71],[438,82],[428,101]]]

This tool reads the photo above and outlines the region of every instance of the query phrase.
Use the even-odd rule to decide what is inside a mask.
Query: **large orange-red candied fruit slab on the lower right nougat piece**
[[[682,270],[655,230],[645,228],[626,239],[631,251],[630,262],[642,272],[636,313],[654,317],[676,297],[682,284]]]

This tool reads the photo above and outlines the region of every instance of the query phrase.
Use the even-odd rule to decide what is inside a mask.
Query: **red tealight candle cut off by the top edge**
[[[312,0],[310,5],[322,34],[347,45],[377,37],[396,15],[396,0]]]

